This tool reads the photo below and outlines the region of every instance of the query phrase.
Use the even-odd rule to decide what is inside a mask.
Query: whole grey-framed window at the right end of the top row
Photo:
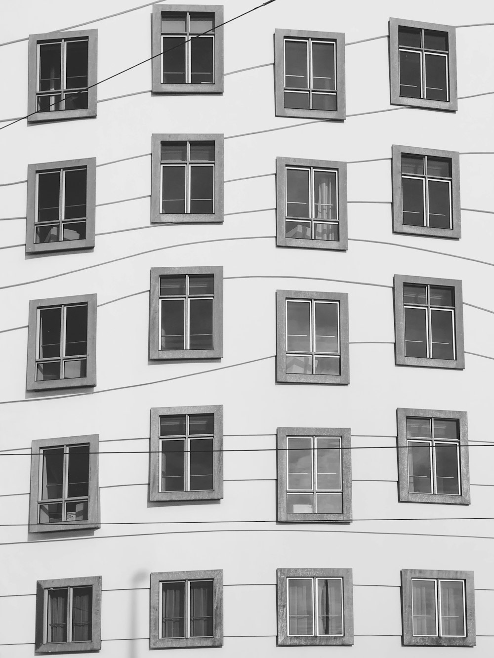
[[[455,28],[389,19],[391,105],[457,111]]]

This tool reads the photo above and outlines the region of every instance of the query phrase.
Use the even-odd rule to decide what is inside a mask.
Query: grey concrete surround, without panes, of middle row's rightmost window
[[[456,359],[433,359],[432,357],[405,356],[405,305],[403,302],[403,284],[453,288],[455,295],[455,357]],[[395,274],[393,286],[395,304],[395,363],[397,366],[414,366],[424,368],[448,368],[464,370],[465,351],[463,336],[463,295],[462,282],[459,279],[433,278],[432,276],[407,276]],[[428,325],[429,326],[429,325]]]

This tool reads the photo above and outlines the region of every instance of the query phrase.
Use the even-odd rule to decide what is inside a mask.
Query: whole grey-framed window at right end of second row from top
[[[460,154],[393,145],[393,231],[460,238]]]

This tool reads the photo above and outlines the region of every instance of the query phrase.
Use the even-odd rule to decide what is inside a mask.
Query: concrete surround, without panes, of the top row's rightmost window
[[[449,101],[438,101],[426,98],[412,98],[400,95],[398,29],[401,27],[447,33]],[[423,69],[422,80],[424,80]],[[429,110],[456,112],[458,110],[456,29],[449,25],[440,25],[437,23],[424,23],[418,20],[405,20],[403,18],[389,18],[389,89],[391,95],[391,105],[405,105],[407,107],[420,107],[422,109]]]

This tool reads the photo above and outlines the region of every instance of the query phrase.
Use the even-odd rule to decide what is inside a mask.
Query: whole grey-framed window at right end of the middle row
[[[395,274],[396,364],[465,367],[462,284]]]

